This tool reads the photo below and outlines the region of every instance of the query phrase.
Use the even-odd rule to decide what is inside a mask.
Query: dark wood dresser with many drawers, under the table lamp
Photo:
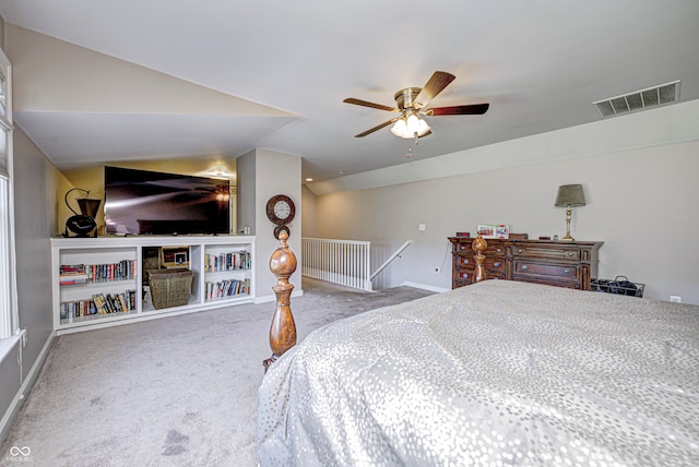
[[[475,238],[449,237],[452,243],[451,287],[472,284],[475,272]],[[485,270],[488,279],[509,279],[590,290],[597,277],[602,241],[486,239]]]

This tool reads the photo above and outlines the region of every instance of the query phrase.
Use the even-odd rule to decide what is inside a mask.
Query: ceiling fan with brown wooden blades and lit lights
[[[393,128],[391,128],[391,133],[396,136],[405,139],[423,137],[431,134],[431,130],[419,115],[436,117],[485,113],[488,110],[488,107],[490,107],[489,104],[425,108],[431,99],[437,97],[437,95],[449,85],[449,83],[454,81],[454,77],[457,76],[451,73],[447,73],[446,71],[436,71],[424,87],[406,87],[395,93],[393,96],[398,106],[395,108],[383,106],[381,104],[369,103],[367,100],[355,99],[354,97],[344,99],[343,103],[400,113],[400,116],[394,117],[391,120],[384,121],[383,123],[359,134],[355,134],[355,137],[364,137],[367,134],[381,130],[391,123],[394,123]]]

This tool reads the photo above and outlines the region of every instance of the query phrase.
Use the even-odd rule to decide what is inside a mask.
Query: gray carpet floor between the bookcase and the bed
[[[430,295],[304,278],[298,340],[325,323]],[[36,466],[257,466],[257,388],[274,303],[60,336],[0,451]],[[16,450],[15,450],[16,451]]]

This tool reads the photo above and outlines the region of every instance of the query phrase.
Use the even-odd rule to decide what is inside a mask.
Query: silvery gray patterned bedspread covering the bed
[[[312,332],[261,466],[699,466],[699,307],[486,280]]]

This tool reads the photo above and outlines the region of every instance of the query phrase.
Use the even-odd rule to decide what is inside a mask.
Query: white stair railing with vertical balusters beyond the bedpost
[[[371,290],[371,242],[301,238],[301,275]]]

